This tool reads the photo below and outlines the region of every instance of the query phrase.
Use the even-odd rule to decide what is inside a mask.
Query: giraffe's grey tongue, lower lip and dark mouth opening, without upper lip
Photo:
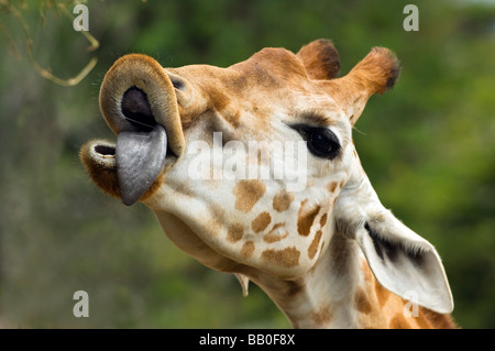
[[[148,191],[177,156],[168,147],[167,132],[155,121],[144,92],[130,88],[121,106],[134,130],[118,133],[117,143],[88,142],[80,155],[92,180],[130,206]]]

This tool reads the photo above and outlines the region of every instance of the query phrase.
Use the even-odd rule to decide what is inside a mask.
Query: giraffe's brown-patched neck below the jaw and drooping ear
[[[353,240],[336,234],[316,266],[295,281],[251,277],[294,328],[451,328],[449,316],[415,307],[373,276]],[[409,312],[407,312],[409,311]]]

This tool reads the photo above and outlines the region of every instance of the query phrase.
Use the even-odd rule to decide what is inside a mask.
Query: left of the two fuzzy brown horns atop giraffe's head
[[[297,57],[311,79],[333,79],[339,74],[339,53],[329,40],[320,39],[302,46]]]

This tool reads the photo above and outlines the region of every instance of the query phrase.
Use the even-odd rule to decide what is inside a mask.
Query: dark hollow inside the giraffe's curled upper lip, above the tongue
[[[121,109],[125,119],[140,131],[151,132],[156,125],[146,94],[140,88],[131,87],[123,94]]]

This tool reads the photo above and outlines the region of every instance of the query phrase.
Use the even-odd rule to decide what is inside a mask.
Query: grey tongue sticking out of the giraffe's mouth
[[[150,188],[162,169],[167,153],[165,129],[151,132],[121,132],[117,138],[116,162],[122,202],[130,206]]]

